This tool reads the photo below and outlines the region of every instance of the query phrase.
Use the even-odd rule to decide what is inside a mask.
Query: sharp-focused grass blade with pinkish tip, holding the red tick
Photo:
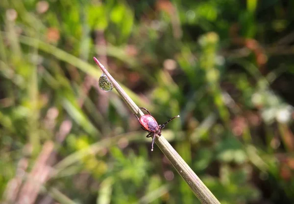
[[[112,82],[114,88],[123,98],[123,101],[128,105],[132,112],[138,117],[144,115],[135,102],[123,91],[118,82],[113,79],[105,67],[94,57],[95,62],[98,64],[102,72],[106,75],[110,82]],[[172,145],[163,137],[156,137],[155,143],[170,160],[174,168],[180,174],[180,176],[189,185],[191,190],[197,196],[203,204],[220,204],[216,197],[210,192],[205,184],[199,179],[190,166],[181,158],[181,156],[173,149]]]

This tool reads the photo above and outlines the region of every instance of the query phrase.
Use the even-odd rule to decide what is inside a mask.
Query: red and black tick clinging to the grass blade
[[[148,135],[146,136],[147,138],[150,138],[153,136],[152,139],[152,143],[151,143],[151,151],[153,151],[153,144],[154,144],[154,139],[155,136],[161,136],[161,130],[169,123],[171,122],[173,119],[180,117],[179,115],[171,118],[170,120],[168,120],[167,122],[163,123],[163,124],[158,124],[157,121],[155,120],[155,118],[153,118],[150,114],[150,112],[143,107],[140,107],[140,109],[145,110],[148,114],[145,114],[143,116],[141,116],[140,118],[138,116],[136,116],[136,118],[138,119],[139,123],[141,124],[141,128],[145,131],[148,132]]]

